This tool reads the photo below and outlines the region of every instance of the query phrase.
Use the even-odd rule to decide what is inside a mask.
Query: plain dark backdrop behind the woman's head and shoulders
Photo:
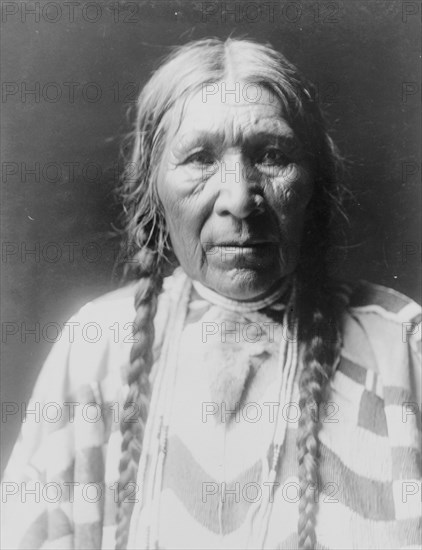
[[[333,271],[420,301],[419,2],[57,5],[2,2],[2,402],[28,398],[43,328],[114,288],[128,109],[168,46],[192,39],[269,41],[317,84],[355,196]],[[20,416],[3,420],[4,468]]]

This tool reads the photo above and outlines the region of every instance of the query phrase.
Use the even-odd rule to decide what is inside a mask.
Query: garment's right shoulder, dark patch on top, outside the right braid
[[[421,307],[396,290],[367,281],[343,288],[348,308],[340,371],[367,389],[378,385],[381,393],[419,402]]]

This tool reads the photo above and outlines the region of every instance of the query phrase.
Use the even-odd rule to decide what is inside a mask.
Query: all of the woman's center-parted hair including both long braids
[[[312,85],[279,52],[251,40],[204,39],[180,46],[163,61],[140,94],[132,133],[132,156],[122,179],[126,250],[131,251],[130,275],[135,278],[136,343],[128,369],[126,404],[133,404],[139,421],[121,420],[119,503],[116,548],[126,548],[133,510],[142,441],[150,398],[154,316],[163,273],[171,255],[166,220],[157,194],[157,177],[166,139],[174,120],[183,116],[187,101],[204,86],[225,79],[265,86],[280,100],[283,117],[305,150],[314,178],[314,193],[296,270],[299,338],[303,369],[299,380],[300,408],[297,449],[301,486],[298,521],[299,548],[314,548],[320,487],[318,406],[323,402],[338,359],[341,303],[327,273],[326,252],[332,220],[340,211],[337,183],[339,156],[329,138]],[[251,96],[253,94],[251,93]],[[170,124],[171,123],[171,124]],[[281,541],[280,541],[281,542]]]

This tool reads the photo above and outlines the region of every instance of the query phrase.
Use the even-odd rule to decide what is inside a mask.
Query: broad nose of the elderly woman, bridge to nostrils
[[[253,166],[242,157],[223,159],[216,174],[220,189],[214,208],[221,216],[244,219],[264,211],[264,199]]]

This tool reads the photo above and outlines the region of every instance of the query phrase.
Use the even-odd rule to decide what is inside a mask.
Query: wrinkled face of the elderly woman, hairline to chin
[[[237,300],[265,296],[294,271],[313,189],[279,99],[253,92],[227,82],[193,96],[171,123],[157,181],[184,271]]]

